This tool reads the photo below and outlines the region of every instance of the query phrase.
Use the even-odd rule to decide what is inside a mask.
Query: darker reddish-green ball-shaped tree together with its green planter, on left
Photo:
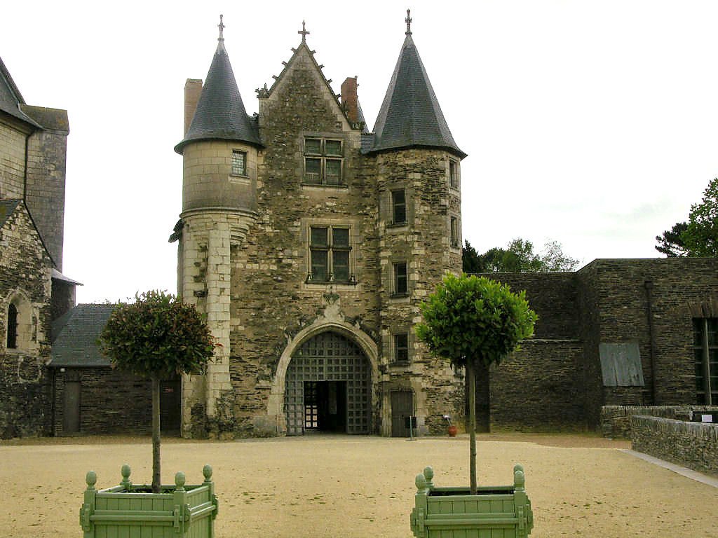
[[[160,379],[205,372],[217,345],[208,325],[194,306],[163,291],[148,291],[136,295],[134,303],[118,303],[99,345],[114,368],[151,379],[152,483],[131,483],[130,468],[124,465],[120,485],[98,491],[96,474],[88,472],[80,509],[85,538],[139,536],[139,529],[143,537],[164,537],[169,529],[181,537],[214,536],[218,502],[210,466],[203,469],[200,485],[186,486],[184,473],[177,473],[173,485],[162,486],[159,457]]]

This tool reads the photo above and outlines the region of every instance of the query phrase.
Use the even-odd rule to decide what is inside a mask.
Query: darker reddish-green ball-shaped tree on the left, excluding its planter
[[[159,382],[174,374],[203,374],[215,340],[195,306],[164,291],[147,291],[118,303],[99,345],[113,368],[152,382],[152,492],[159,493]]]

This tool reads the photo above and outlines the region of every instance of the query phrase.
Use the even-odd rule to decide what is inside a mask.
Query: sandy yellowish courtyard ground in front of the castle
[[[718,489],[620,451],[625,441],[586,435],[481,435],[480,485],[526,469],[531,537],[718,537]],[[306,436],[162,443],[163,483],[210,463],[222,537],[406,537],[414,476],[434,467],[437,486],[468,483],[467,436],[404,439]],[[98,487],[151,477],[149,438],[0,441],[0,529],[8,537],[80,537],[85,473]]]

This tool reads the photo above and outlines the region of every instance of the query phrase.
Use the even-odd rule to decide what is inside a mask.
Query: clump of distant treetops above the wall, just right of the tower
[[[544,250],[535,253],[531,241],[518,237],[506,248],[493,247],[483,254],[466,241],[462,263],[465,273],[548,273],[574,270],[579,260],[565,255],[557,241],[546,242]]]

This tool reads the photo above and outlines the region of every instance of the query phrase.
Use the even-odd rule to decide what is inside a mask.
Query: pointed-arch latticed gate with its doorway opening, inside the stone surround
[[[370,433],[371,377],[369,360],[346,336],[325,331],[304,341],[284,378],[287,435]]]

